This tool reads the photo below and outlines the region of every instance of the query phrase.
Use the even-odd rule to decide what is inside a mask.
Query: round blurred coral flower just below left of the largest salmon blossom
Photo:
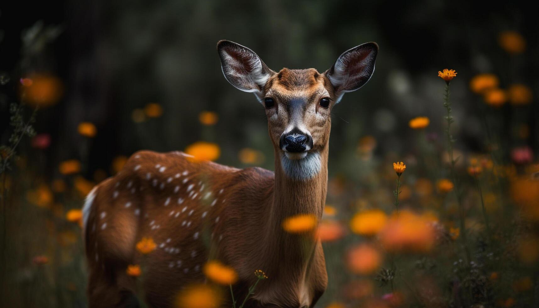
[[[374,273],[382,263],[380,252],[369,244],[360,244],[348,251],[347,265],[361,275]]]

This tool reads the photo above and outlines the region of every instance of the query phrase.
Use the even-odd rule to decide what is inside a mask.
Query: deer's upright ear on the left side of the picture
[[[266,81],[275,73],[254,51],[230,40],[220,40],[217,52],[226,80],[241,91],[261,93]]]

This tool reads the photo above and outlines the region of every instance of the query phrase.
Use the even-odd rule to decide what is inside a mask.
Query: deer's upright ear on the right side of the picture
[[[345,92],[356,91],[369,81],[377,54],[378,44],[371,42],[349,49],[338,57],[326,71],[338,98]]]

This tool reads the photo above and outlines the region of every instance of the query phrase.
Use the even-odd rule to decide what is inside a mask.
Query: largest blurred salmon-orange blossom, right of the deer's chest
[[[403,210],[391,217],[380,239],[388,251],[426,252],[434,244],[434,230],[430,219]]]

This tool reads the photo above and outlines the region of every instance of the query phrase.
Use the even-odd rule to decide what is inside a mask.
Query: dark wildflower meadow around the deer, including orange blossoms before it
[[[174,1],[88,13],[114,22],[36,10],[3,26],[0,306],[87,307],[82,205],[138,150],[274,169],[264,107],[223,78],[215,43],[230,38],[277,70],[323,72],[347,46],[380,46],[369,84],[332,110],[322,218],[280,225],[322,242],[328,286],[315,307],[539,307],[539,27],[524,4],[471,4],[469,16],[461,4],[399,4],[426,18],[417,24],[365,4],[374,19],[344,13],[338,36],[324,16],[346,11],[340,2],[254,5],[281,20],[259,29],[244,7]],[[121,269],[141,306],[158,249],[137,239],[143,262]],[[253,268],[234,298],[237,269],[195,270],[206,283],[178,290],[177,307],[247,307],[277,276]]]

